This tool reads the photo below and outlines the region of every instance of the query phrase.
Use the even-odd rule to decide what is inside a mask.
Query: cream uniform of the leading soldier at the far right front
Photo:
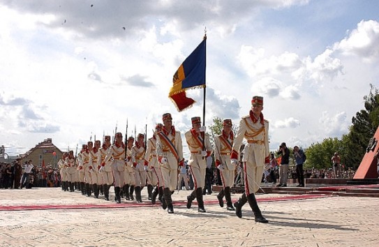
[[[242,140],[245,138],[247,144],[244,149],[244,174],[245,193],[253,194],[258,191],[262,180],[265,158],[269,157],[269,122],[263,124],[260,119],[253,121],[250,116],[242,117],[233,144],[232,156],[238,154]]]

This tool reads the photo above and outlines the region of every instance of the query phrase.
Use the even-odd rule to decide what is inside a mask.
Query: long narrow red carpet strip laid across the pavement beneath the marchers
[[[276,201],[286,201],[286,200],[301,200],[301,199],[312,199],[318,197],[325,197],[328,195],[285,195],[283,197],[268,197],[268,198],[258,198],[258,202],[276,202]],[[196,205],[196,201],[193,203]],[[205,200],[205,205],[207,204],[218,204],[218,200]],[[186,206],[186,201],[174,202],[174,206]],[[20,210],[43,210],[43,209],[116,209],[116,208],[126,208],[126,207],[161,207],[159,202],[155,205],[151,202],[131,202],[122,201],[121,204],[117,203],[107,203],[107,204],[56,204],[56,205],[18,205],[18,206],[0,206],[0,211],[20,211]]]

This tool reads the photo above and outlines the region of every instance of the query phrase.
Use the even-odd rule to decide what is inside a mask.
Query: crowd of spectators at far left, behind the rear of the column
[[[59,187],[61,186],[61,175],[57,168],[52,165],[44,167],[34,166],[22,186],[21,179],[24,174],[26,163],[21,164],[20,160],[12,163],[0,163],[0,188],[31,188],[31,187]]]

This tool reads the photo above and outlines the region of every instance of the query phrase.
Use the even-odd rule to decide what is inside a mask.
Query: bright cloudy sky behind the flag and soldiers
[[[0,0],[0,140],[10,156],[52,138],[75,149],[91,135],[149,137],[171,112],[172,75],[207,30],[205,124],[237,123],[264,97],[271,149],[348,132],[370,84],[379,87],[376,0]]]

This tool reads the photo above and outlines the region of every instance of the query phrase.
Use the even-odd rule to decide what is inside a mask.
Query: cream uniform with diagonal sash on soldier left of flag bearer
[[[167,163],[159,163],[163,187],[170,188],[173,191],[177,186],[178,164],[183,161],[183,144],[180,132],[175,131],[172,133],[172,130],[167,132],[163,129],[158,133],[156,137],[156,154],[160,158],[167,159]]]

